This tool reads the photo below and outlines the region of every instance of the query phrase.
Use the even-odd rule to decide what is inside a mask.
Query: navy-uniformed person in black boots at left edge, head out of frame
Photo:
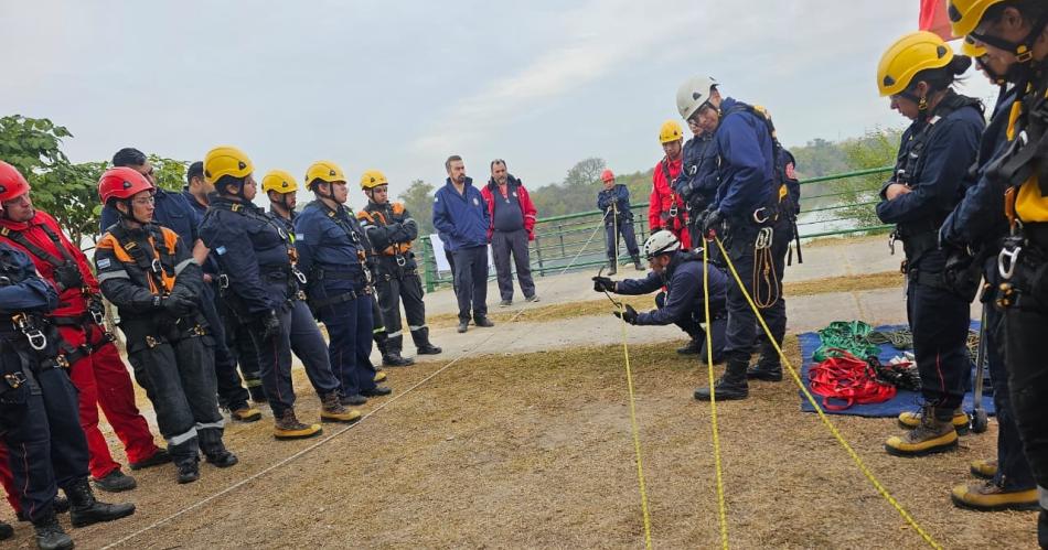
[[[79,424],[61,335],[43,314],[58,294],[21,251],[0,244],[0,439],[8,449],[21,514],[36,546],[73,548],[55,517],[57,488],[69,497],[71,521],[84,527],[135,513],[133,504],[104,504],[87,482],[87,438]]]

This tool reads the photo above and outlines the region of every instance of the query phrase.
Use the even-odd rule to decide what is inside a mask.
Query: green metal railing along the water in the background
[[[883,166],[811,177],[802,181],[801,185],[832,184],[833,182],[843,182],[856,177],[887,174],[891,170],[892,166]],[[876,219],[876,216],[870,214],[878,201],[864,199],[857,203],[848,203],[841,198],[857,195],[863,195],[863,193],[855,190],[834,190],[832,186],[821,194],[805,195],[802,193],[802,204],[805,206],[802,207],[796,224],[801,238],[867,234],[891,227],[870,222]],[[856,209],[865,215],[855,216]],[[649,234],[648,203],[633,204],[631,212],[633,213],[633,230],[637,234],[638,245],[643,245]],[[437,259],[430,239],[420,237],[419,241],[421,241],[421,266],[426,291],[432,292],[438,285],[450,284],[451,273],[437,269]],[[605,246],[603,213],[600,211],[542,218],[535,225],[535,240],[531,242],[530,247],[532,273],[543,277],[548,273],[560,273],[566,269],[574,270],[606,265],[608,256]],[[624,242],[621,242],[621,239],[619,246],[619,257],[629,258],[624,250]],[[438,254],[442,255],[443,250]]]

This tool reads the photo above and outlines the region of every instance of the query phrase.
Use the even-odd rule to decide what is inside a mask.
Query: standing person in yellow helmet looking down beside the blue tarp
[[[961,401],[971,377],[965,344],[977,283],[963,289],[947,283],[939,229],[974,183],[969,166],[985,127],[982,104],[951,88],[971,62],[955,56],[935,34],[921,31],[892,44],[877,71],[880,95],[913,121],[902,134],[895,173],[877,205],[877,216],[896,224],[889,246],[894,250],[901,240],[906,251],[907,316],[924,401],[920,412],[900,416],[899,422],[910,430],[885,443],[885,450],[898,456],[953,449],[958,429],[967,429]]]

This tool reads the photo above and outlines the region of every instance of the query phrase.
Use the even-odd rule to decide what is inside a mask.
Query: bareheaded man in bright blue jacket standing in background
[[[466,175],[462,158],[453,154],[443,163],[448,180],[434,196],[434,227],[442,236],[455,259],[455,283],[459,300],[459,333],[477,326],[494,326],[488,319],[488,205],[473,180]],[[472,315],[470,309],[472,308]]]

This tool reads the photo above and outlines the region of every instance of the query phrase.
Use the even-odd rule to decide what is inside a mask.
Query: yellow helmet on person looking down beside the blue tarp
[[[944,67],[953,61],[953,50],[938,35],[928,31],[907,34],[888,47],[877,66],[877,88],[880,96],[894,96],[910,87],[921,71]]]

